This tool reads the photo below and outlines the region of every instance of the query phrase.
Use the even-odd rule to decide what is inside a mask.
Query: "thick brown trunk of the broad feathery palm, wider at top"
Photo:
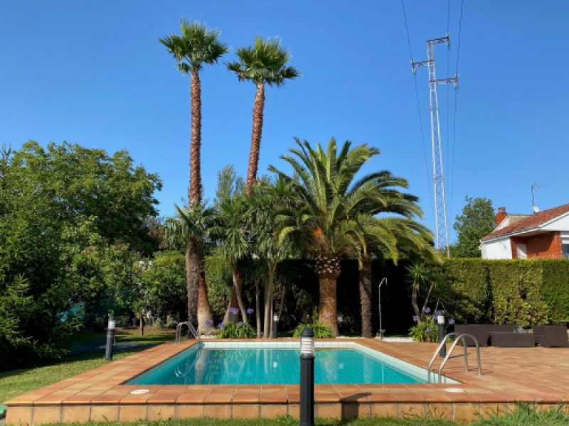
[[[340,258],[335,254],[320,253],[314,256],[314,272],[320,284],[319,322],[328,325],[338,336],[336,280],[340,276]]]

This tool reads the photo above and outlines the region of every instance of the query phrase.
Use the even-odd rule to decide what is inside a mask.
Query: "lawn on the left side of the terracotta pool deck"
[[[80,337],[82,342],[105,337],[105,334],[87,334]],[[161,344],[171,342],[171,334],[154,334],[140,336],[137,334],[117,334],[117,342],[140,342]],[[134,352],[147,349],[132,348],[115,352],[113,359],[121,359]],[[0,403],[17,395],[48,386],[51,383],[62,381],[65,378],[76,376],[85,371],[107,364],[104,353],[80,354],[68,356],[57,364],[35,368],[21,368],[18,370],[0,371]]]

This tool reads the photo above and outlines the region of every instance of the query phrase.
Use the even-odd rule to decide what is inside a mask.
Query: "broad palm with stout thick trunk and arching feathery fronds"
[[[336,312],[336,280],[341,273],[342,256],[361,258],[366,238],[385,239],[381,229],[369,223],[362,214],[366,206],[382,201],[378,173],[359,180],[356,175],[362,165],[379,151],[367,144],[351,148],[346,141],[339,153],[332,138],[326,152],[320,143],[312,148],[307,141],[296,139],[298,148],[281,158],[294,170],[294,176],[270,167],[292,185],[297,205],[284,208],[277,214],[278,241],[296,241],[314,258],[314,271],[319,279],[319,321],[328,324],[338,334]]]

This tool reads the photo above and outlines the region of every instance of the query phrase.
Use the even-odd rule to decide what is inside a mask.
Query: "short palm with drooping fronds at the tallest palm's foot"
[[[212,207],[205,207],[202,204],[196,204],[193,208],[176,207],[176,217],[166,220],[164,223],[164,234],[166,245],[171,247],[186,247],[186,287],[188,294],[194,292],[193,288],[189,288],[188,283],[196,280],[193,273],[198,273],[198,332],[208,334],[213,331],[211,305],[208,300],[208,288],[205,279],[205,265],[203,262],[197,265],[193,262],[196,259],[203,259],[204,247],[203,241],[208,239],[210,231],[215,220],[215,210]],[[196,241],[200,244],[196,245]],[[188,256],[188,253],[196,254],[196,256]],[[191,306],[195,299],[188,297],[188,312],[196,310]]]

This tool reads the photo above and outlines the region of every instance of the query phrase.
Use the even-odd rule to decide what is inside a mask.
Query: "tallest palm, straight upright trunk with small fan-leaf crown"
[[[201,204],[201,82],[200,71],[203,65],[218,61],[228,46],[219,40],[219,31],[210,30],[198,22],[180,22],[181,35],[172,34],[160,38],[174,55],[178,69],[184,75],[190,75],[191,136],[190,136],[190,181],[188,202],[191,209]],[[186,283],[188,288],[188,320],[194,322],[198,310],[198,288],[200,280],[201,241],[191,239],[186,247]],[[204,284],[205,285],[205,281]],[[202,315],[203,316],[203,315]]]

